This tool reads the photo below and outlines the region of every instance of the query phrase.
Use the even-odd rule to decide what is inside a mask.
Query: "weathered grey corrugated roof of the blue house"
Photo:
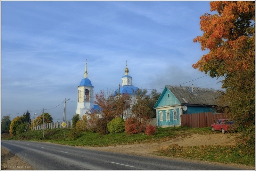
[[[218,105],[217,100],[222,94],[218,90],[209,88],[192,87],[191,86],[171,86],[166,87],[184,104],[199,104],[199,105]]]

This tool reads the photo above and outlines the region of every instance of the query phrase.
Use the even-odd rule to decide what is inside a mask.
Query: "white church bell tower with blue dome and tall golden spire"
[[[94,104],[94,86],[92,86],[91,81],[87,78],[87,60],[85,63],[84,79],[82,79],[80,85],[78,85],[77,88],[78,91],[76,114],[79,114],[80,118],[82,118],[83,115],[90,113],[91,109],[99,109],[99,106]]]

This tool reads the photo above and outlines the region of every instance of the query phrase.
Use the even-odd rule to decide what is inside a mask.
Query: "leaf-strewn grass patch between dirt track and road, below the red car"
[[[254,152],[243,151],[237,146],[202,145],[189,146],[186,148],[170,146],[169,148],[161,149],[154,154],[168,157],[255,166]]]

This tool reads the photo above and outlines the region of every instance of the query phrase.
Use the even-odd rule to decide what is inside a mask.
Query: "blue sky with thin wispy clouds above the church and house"
[[[70,99],[70,120],[86,59],[94,94],[118,88],[126,61],[132,84],[149,93],[180,84],[222,90],[220,78],[192,67],[208,53],[193,39],[209,3],[1,1],[1,118],[47,109],[62,121]]]

